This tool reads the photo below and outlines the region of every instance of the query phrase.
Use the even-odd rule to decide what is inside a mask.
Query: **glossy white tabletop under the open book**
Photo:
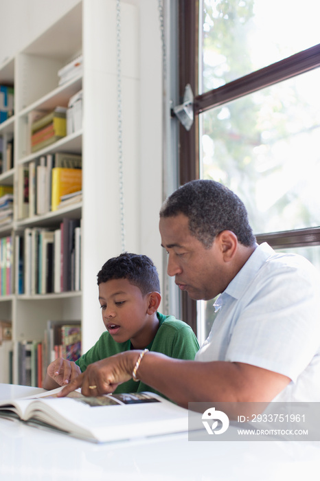
[[[30,388],[0,384],[0,399],[30,394]],[[190,442],[179,434],[99,445],[0,419],[1,481],[318,481],[319,476],[320,443]]]

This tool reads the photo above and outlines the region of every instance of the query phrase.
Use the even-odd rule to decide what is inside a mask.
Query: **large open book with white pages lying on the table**
[[[188,411],[157,394],[108,394],[85,397],[80,392],[58,398],[62,388],[10,401],[0,401],[0,417],[49,427],[96,443],[187,432]]]

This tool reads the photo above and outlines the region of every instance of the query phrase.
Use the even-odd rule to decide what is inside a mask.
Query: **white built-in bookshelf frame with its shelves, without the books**
[[[0,228],[0,237],[23,233],[25,227],[58,228],[64,217],[81,219],[82,203],[43,216],[18,219],[19,166],[41,155],[56,152],[82,153],[82,131],[68,135],[36,153],[30,153],[27,122],[32,111],[67,107],[69,98],[82,89],[82,76],[58,85],[58,70],[82,52],[82,3],[78,3],[52,27],[25,47],[0,69],[0,83],[14,85],[14,116],[0,124],[3,143],[14,137],[14,168],[0,175],[0,184],[14,186],[14,220]],[[12,256],[14,260],[14,255]],[[16,270],[12,268],[12,274]],[[12,282],[13,288],[15,282]],[[12,321],[13,381],[19,379],[17,344],[23,339],[42,341],[47,320],[82,318],[82,293],[17,294],[0,298],[0,318]]]

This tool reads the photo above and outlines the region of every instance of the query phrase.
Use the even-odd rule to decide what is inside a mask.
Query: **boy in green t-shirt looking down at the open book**
[[[45,389],[68,384],[89,364],[130,349],[194,359],[199,345],[192,328],[172,315],[157,312],[160,284],[150,258],[126,252],[109,259],[98,272],[98,286],[106,332],[78,361],[58,358],[49,364],[43,382]],[[141,391],[157,392],[133,379],[118,385],[114,392]]]

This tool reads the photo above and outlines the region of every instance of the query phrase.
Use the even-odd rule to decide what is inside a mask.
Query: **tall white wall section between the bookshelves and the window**
[[[92,158],[94,162],[92,168],[84,172],[84,198],[88,192],[99,192],[89,204],[84,203],[83,208],[83,245],[86,253],[82,264],[86,293],[82,300],[84,319],[93,314],[93,306],[98,312],[95,285],[98,270],[106,259],[121,252],[115,7],[113,0],[84,0],[86,135],[83,147],[84,157]],[[157,22],[157,1],[130,4],[122,1],[125,249],[147,254],[161,273],[162,252],[158,231],[162,192],[161,45]],[[96,102],[97,95],[99,102]],[[105,132],[100,131],[101,123],[97,122],[101,118],[104,119]],[[90,127],[92,122],[96,122],[96,132]],[[102,323],[97,329],[100,332],[103,330]],[[85,322],[84,350],[88,339],[94,342],[97,336],[98,331],[93,333],[93,326]]]

